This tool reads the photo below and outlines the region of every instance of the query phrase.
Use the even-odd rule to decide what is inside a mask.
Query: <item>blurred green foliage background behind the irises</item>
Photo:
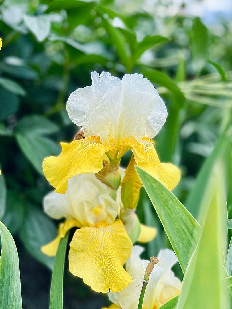
[[[49,307],[54,259],[40,247],[54,239],[58,222],[42,210],[52,188],[41,163],[78,130],[65,109],[68,95],[91,84],[92,70],[147,77],[169,112],[155,147],[161,161],[181,168],[174,194],[196,217],[187,195],[232,108],[231,17],[228,0],[0,1],[0,219],[19,252],[25,309]],[[170,244],[143,189],[137,212],[158,229],[144,258],[157,255]],[[181,277],[178,266],[175,272]],[[65,309],[108,304],[66,265]]]

